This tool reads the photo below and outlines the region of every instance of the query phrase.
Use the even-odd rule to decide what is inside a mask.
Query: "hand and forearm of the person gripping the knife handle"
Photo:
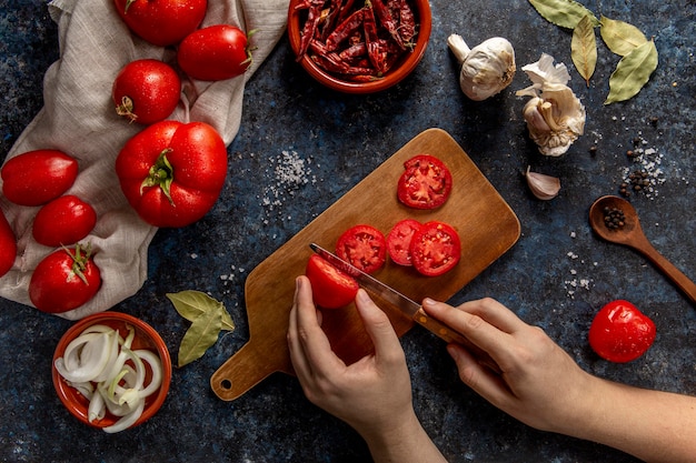
[[[450,343],[459,378],[490,403],[539,430],[599,442],[646,462],[693,463],[696,397],[633,387],[583,371],[546,333],[493,299],[424,310],[486,351],[500,374]]]

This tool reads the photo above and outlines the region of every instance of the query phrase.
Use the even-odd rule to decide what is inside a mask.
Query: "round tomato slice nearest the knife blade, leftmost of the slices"
[[[365,273],[372,273],[387,260],[387,240],[374,227],[355,225],[338,238],[336,254]]]

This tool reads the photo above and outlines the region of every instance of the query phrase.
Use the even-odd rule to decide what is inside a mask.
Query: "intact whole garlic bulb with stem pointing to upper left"
[[[447,38],[461,71],[459,87],[474,101],[481,101],[499,93],[515,77],[515,50],[506,39],[494,37],[469,49],[456,33]]]

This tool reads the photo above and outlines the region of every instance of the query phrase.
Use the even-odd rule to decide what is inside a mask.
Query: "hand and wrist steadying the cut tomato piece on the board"
[[[445,462],[416,417],[406,355],[387,315],[359,290],[356,308],[375,351],[346,365],[321,330],[306,276],[296,281],[290,360],[307,399],[366,440],[376,463]]]

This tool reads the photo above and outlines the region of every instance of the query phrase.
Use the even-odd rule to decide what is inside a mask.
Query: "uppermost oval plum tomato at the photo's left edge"
[[[78,170],[78,161],[61,151],[28,151],[2,167],[2,193],[19,205],[44,204],[72,187]]]

